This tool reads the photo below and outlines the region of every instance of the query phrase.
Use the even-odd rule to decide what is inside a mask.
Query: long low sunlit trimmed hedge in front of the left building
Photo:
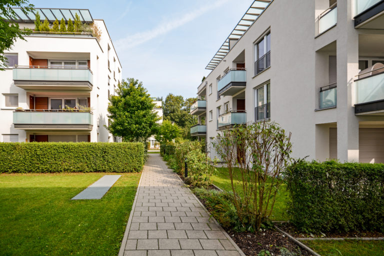
[[[0,143],[0,172],[138,172],[142,143]]]

